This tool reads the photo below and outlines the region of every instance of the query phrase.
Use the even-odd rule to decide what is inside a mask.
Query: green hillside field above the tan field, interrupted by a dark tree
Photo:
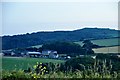
[[[91,40],[91,42],[99,46],[118,46],[120,45],[120,38]],[[80,44],[81,46],[83,45],[82,41],[75,43]]]

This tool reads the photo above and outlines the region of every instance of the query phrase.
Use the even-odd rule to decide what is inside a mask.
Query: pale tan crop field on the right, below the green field
[[[93,49],[95,53],[120,53],[120,46]]]

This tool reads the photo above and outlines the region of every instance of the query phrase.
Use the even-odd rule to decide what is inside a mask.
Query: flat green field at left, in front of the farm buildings
[[[23,57],[2,57],[3,70],[27,69],[36,64],[36,62],[62,63],[64,60],[43,59],[43,58],[23,58]]]

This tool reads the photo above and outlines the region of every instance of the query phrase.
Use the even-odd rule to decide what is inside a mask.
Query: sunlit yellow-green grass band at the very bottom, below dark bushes
[[[37,78],[89,78],[89,79],[94,79],[94,78],[108,78],[108,79],[117,79],[119,80],[120,78],[120,73],[99,73],[99,72],[94,72],[92,70],[86,70],[86,71],[75,71],[75,72],[50,72],[49,74],[36,74],[36,73],[25,73],[22,70],[19,71],[12,71],[12,72],[4,72],[3,71],[3,79],[7,80],[15,80],[19,78],[25,78],[25,80],[30,80],[30,79],[37,79]]]

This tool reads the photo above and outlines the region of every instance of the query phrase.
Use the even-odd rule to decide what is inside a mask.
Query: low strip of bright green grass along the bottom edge
[[[46,79],[82,79],[82,80],[119,80],[120,73],[113,73],[113,74],[100,74],[98,72],[89,72],[89,71],[76,71],[76,72],[52,72],[46,75],[39,75],[39,74],[26,74],[23,71],[14,71],[14,72],[3,72],[2,74],[4,80],[46,80]],[[40,79],[41,78],[41,79]]]

